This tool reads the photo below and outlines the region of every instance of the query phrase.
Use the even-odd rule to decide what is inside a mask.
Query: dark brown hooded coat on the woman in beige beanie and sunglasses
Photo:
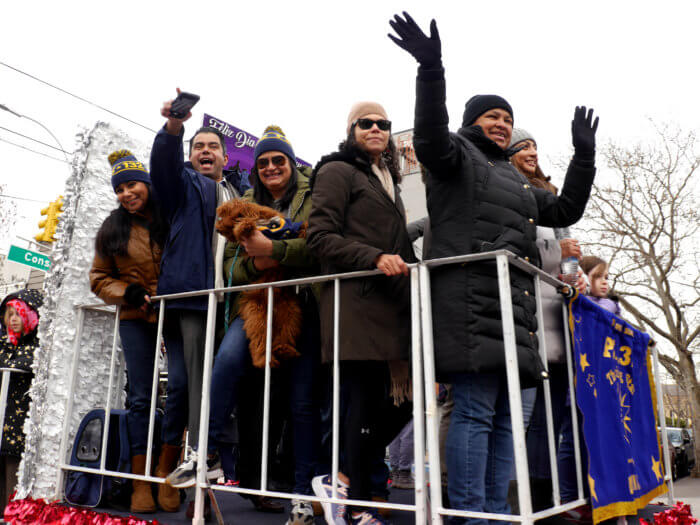
[[[307,246],[323,273],[376,269],[383,253],[414,262],[399,188],[392,202],[363,159],[345,152],[324,157],[313,176]],[[407,277],[341,281],[340,359],[406,359],[410,344]],[[324,362],[333,360],[333,283],[321,291]]]

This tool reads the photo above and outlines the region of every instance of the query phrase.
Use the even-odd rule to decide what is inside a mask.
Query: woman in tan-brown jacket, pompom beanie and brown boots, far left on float
[[[142,163],[128,150],[109,156],[112,187],[119,206],[105,219],[95,239],[95,258],[90,270],[90,287],[105,303],[120,305],[119,335],[126,361],[129,383],[127,423],[131,444],[131,469],[144,474],[155,365],[157,323],[151,306],[155,295],[160,257],[167,225],[161,218],[153,197],[151,178]],[[186,392],[185,392],[186,395]],[[163,429],[157,475],[166,475],[166,463],[177,460],[185,426],[186,410],[176,410],[178,396],[168,386],[168,404]],[[186,398],[185,398],[186,399]],[[173,460],[174,457],[174,460]],[[151,484],[134,480],[131,512],[154,512]],[[158,503],[167,512],[180,507],[177,490],[161,485]]]

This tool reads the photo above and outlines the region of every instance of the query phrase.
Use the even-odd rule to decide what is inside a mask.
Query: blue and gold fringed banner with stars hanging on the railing
[[[649,335],[582,295],[569,324],[593,521],[634,515],[666,492]]]

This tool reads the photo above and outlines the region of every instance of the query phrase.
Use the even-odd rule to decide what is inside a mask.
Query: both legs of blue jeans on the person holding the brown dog
[[[319,318],[317,307],[312,301],[304,304],[303,319],[301,334],[297,341],[297,349],[301,355],[283,362],[278,369],[275,369],[273,381],[277,383],[275,390],[282,393],[290,404],[294,436],[294,492],[312,494],[311,479],[316,474],[321,442]],[[226,441],[222,429],[234,408],[238,406],[239,413],[241,410],[246,412],[239,403],[243,400],[240,394],[241,382],[245,376],[253,372],[248,339],[243,330],[243,320],[237,317],[229,326],[214,361],[209,422],[212,450],[217,448],[219,443]],[[255,395],[253,392],[246,391],[246,405],[252,401],[253,395]],[[262,411],[260,411],[259,420],[262,424]],[[271,428],[274,426],[271,425]],[[257,431],[250,427],[239,425],[242,456],[245,454],[244,443],[248,443],[242,434],[250,435],[251,432],[257,434]],[[272,432],[271,435],[273,435]],[[252,442],[251,445],[253,445]],[[255,446],[254,449],[259,450],[259,446]],[[257,454],[255,456],[259,457]]]

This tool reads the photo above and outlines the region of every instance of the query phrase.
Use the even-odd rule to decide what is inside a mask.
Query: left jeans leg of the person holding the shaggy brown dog
[[[236,317],[221,341],[211,373],[209,452],[226,441],[228,422],[238,403],[240,380],[252,366],[243,319]]]

